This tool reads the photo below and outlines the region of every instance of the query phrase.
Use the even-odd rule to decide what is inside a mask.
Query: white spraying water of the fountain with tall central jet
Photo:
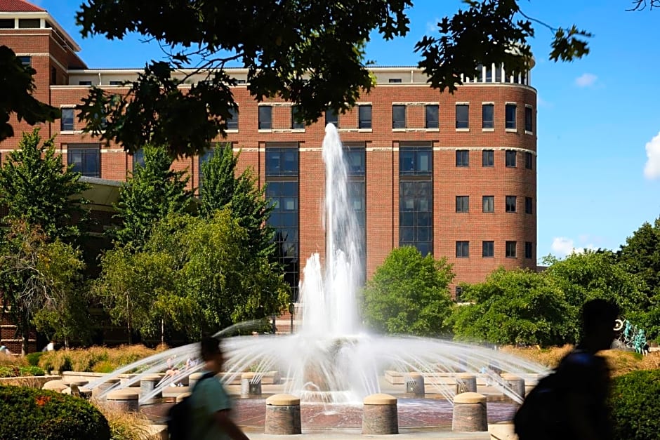
[[[322,402],[325,408],[338,404],[350,408],[361,404],[365,396],[381,391],[385,371],[397,372],[404,380],[413,373],[421,373],[435,378],[428,381],[426,393],[444,397],[445,405],[450,407],[456,388],[438,378],[458,373],[483,376],[485,372],[503,394],[522,401],[515,389],[487,366],[496,365],[501,372],[521,378],[547,373],[545,368],[486,347],[433,338],[373,335],[362,330],[356,281],[362,274],[363,262],[359,259],[362,244],[347,201],[348,173],[343,148],[332,124],[326,127],[322,152],[326,164],[325,270],[320,255],[311,255],[303,272],[298,309],[301,324],[296,333],[225,339],[227,373],[223,379],[231,381],[242,372],[251,371],[255,380],[260,380],[269,371],[279,371],[284,378],[283,391],[300,396],[301,401]],[[139,374],[104,394],[139,383],[147,374],[165,371],[166,359],[173,356],[195,358],[197,349],[197,344],[177,347],[120,368],[110,376],[130,371]],[[172,381],[178,382],[200,368],[201,363],[187,368]],[[97,387],[106,380],[100,378],[88,387]],[[140,396],[140,402],[150,401],[169,385],[167,381],[159,384],[150,394]],[[411,402],[417,404],[419,400]]]

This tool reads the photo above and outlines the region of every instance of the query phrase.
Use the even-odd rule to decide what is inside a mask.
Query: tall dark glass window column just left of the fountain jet
[[[272,203],[268,225],[275,229],[275,246],[284,280],[298,301],[300,272],[300,210],[298,207],[298,145],[266,144],[266,199]]]

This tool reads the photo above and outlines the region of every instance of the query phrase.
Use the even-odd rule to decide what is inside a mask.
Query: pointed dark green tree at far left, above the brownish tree
[[[62,164],[52,138],[41,143],[39,128],[23,133],[19,147],[0,168],[0,205],[7,208],[6,218],[38,226],[49,240],[78,236],[86,218],[81,205],[87,203],[79,194],[89,185]]]

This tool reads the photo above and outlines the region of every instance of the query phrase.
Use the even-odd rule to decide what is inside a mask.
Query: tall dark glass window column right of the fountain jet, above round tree
[[[433,162],[431,147],[400,147],[399,246],[433,253]]]

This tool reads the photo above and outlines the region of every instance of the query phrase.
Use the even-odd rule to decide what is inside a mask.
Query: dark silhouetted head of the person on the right
[[[594,351],[609,349],[614,340],[614,321],[619,316],[619,307],[613,302],[596,299],[582,306],[583,338]]]

